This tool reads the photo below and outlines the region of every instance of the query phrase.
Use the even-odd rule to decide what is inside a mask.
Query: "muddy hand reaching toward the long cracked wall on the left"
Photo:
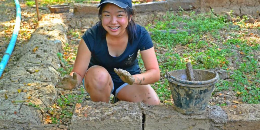
[[[60,79],[58,82],[58,88],[63,88],[65,90],[73,89],[77,85],[77,74],[73,73],[71,75],[65,75],[64,78]]]

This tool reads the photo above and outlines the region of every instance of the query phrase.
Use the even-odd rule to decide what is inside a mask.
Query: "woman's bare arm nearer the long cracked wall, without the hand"
[[[82,79],[84,78],[86,71],[88,69],[90,58],[91,58],[91,52],[88,49],[88,46],[86,45],[84,40],[81,38],[74,67],[72,69],[72,72],[69,74],[71,76],[73,76],[74,72],[77,74],[77,80],[78,80],[77,84],[81,84]]]

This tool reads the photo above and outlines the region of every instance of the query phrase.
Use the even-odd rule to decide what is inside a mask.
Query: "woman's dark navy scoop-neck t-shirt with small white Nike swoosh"
[[[101,26],[101,25],[100,25]],[[88,67],[99,65],[107,69],[112,78],[120,81],[119,76],[114,72],[114,68],[127,70],[131,75],[139,74],[140,68],[136,59],[138,50],[146,50],[153,47],[152,39],[146,29],[136,25],[136,36],[133,43],[127,43],[125,51],[118,57],[113,57],[108,53],[107,41],[101,33],[98,24],[88,29],[82,36],[83,40],[91,52],[91,59]]]

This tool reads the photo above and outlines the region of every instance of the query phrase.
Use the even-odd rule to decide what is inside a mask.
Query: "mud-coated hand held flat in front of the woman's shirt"
[[[135,81],[134,77],[129,72],[127,72],[126,70],[114,68],[114,72],[125,83],[128,83],[128,84],[132,85],[134,83],[134,81]]]

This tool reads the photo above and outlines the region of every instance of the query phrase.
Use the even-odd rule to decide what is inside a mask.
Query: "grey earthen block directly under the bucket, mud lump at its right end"
[[[228,116],[219,106],[208,106],[206,112],[199,115],[184,115],[173,106],[150,106],[143,108],[144,129],[222,129]]]

